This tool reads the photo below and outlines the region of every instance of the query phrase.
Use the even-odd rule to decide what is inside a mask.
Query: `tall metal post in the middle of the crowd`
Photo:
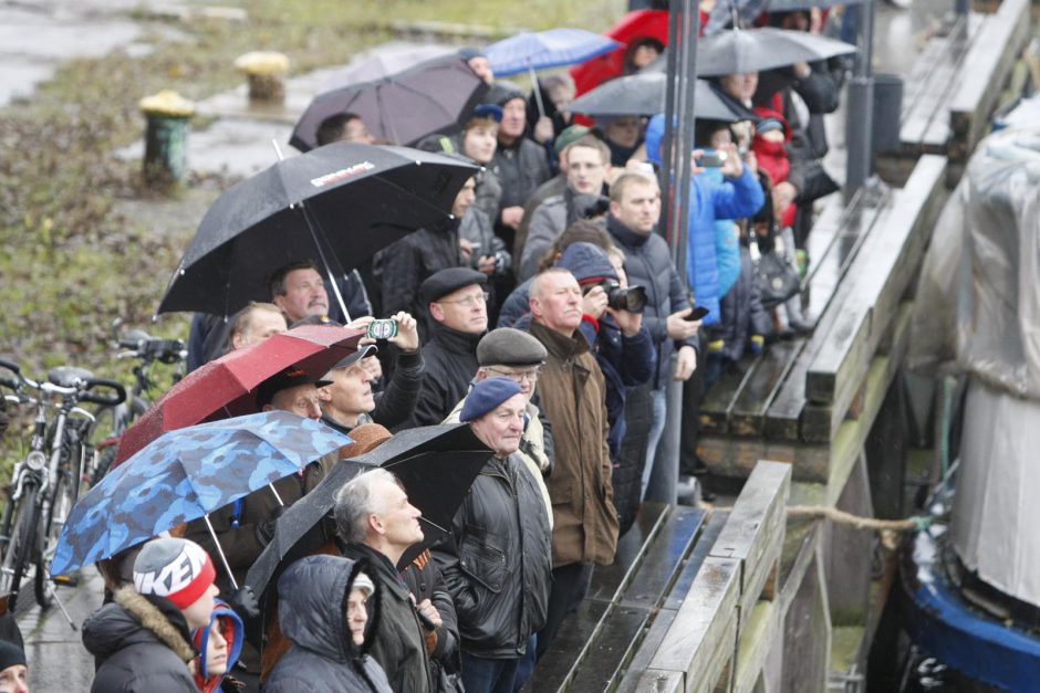
[[[668,44],[668,92],[665,107],[665,154],[662,191],[666,196],[662,220],[672,250],[676,272],[688,284],[686,246],[689,224],[690,165],[694,149],[694,94],[697,84],[697,33],[700,24],[698,4],[693,0],[672,2]],[[665,170],[667,169],[667,170]],[[664,211],[663,209],[663,211]],[[675,356],[672,361],[675,368]],[[654,470],[646,489],[646,500],[675,505],[679,470],[679,433],[683,387],[667,386],[667,423],[656,451],[649,451],[647,464]],[[655,454],[656,452],[656,454]]]

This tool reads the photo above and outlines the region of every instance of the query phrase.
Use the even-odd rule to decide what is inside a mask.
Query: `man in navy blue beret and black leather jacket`
[[[509,378],[474,386],[459,416],[495,451],[435,549],[455,599],[462,682],[474,693],[512,691],[532,634],[545,623],[551,528],[541,490],[517,455],[527,397]]]

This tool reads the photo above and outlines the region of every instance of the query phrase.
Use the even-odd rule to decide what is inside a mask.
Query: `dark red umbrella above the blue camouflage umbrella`
[[[303,325],[206,364],[126,429],[115,464],[166,431],[256,412],[258,385],[289,366],[321,378],[340,359],[356,351],[357,340],[364,335],[364,329]]]

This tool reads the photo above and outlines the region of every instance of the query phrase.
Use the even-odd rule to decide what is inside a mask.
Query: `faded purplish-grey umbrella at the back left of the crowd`
[[[458,132],[488,85],[458,55],[419,63],[410,70],[319,94],[292,130],[289,144],[308,151],[318,146],[318,126],[329,116],[355,113],[376,138],[408,145],[433,133]]]

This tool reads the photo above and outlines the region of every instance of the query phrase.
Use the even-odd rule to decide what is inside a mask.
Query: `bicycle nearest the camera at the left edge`
[[[0,386],[14,392],[6,399],[35,409],[30,450],[14,465],[0,518],[0,594],[10,594],[8,605],[14,611],[22,580],[34,567],[35,600],[46,608],[54,599],[55,582],[75,584],[69,578],[52,580],[50,565],[83,482],[96,477],[92,468],[97,456],[87,441],[94,416],[79,405],[115,407],[126,399],[126,390],[122,384],[95,378],[82,368],[52,368],[43,382],[25,377],[10,361],[0,360],[0,369],[14,375],[13,379],[0,377]],[[94,392],[94,388],[113,392]],[[28,390],[34,390],[35,396]],[[49,420],[51,409],[56,413]]]

